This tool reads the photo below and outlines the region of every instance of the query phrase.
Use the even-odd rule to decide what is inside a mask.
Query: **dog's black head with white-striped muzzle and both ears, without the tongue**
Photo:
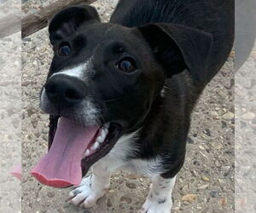
[[[188,69],[191,78],[203,83],[212,44],[209,34],[186,26],[102,23],[89,6],[56,14],[49,39],[54,57],[41,108],[84,128],[98,126],[95,134],[108,128],[103,142],[108,148],[87,153],[93,163],[120,135],[143,124],[166,78]]]

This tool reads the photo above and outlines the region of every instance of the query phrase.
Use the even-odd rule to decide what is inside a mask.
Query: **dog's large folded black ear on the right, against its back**
[[[188,68],[200,82],[207,82],[207,57],[212,47],[212,34],[175,24],[148,24],[138,27],[154,51],[156,60],[171,78]]]

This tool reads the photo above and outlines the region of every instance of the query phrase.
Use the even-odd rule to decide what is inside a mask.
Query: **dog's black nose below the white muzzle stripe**
[[[58,74],[47,81],[44,85],[45,93],[49,101],[56,107],[73,107],[84,99],[85,84],[79,78]]]

